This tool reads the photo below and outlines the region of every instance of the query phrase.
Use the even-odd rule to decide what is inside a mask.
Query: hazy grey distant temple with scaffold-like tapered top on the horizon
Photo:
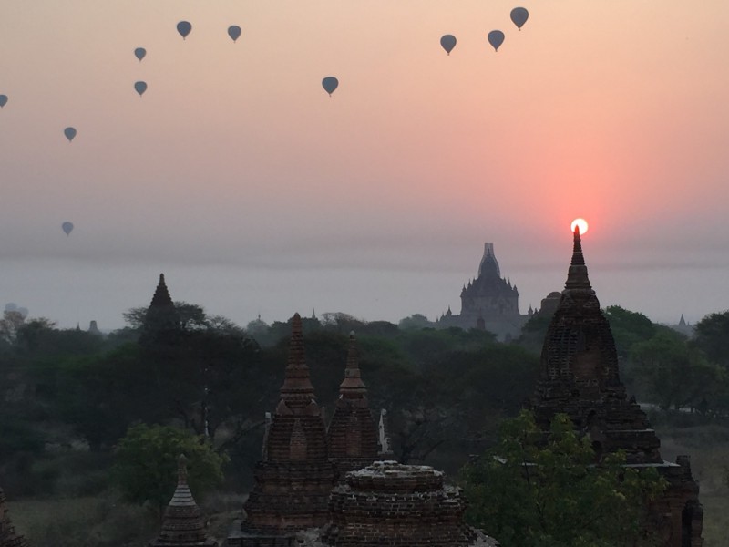
[[[457,326],[464,330],[487,330],[501,341],[516,338],[529,315],[519,314],[519,290],[501,277],[494,244],[484,243],[484,255],[478,265],[478,277],[461,291],[461,313],[450,307],[437,320],[438,328]]]

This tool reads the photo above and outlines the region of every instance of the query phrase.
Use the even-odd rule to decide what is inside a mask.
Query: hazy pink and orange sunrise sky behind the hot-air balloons
[[[662,323],[729,307],[723,0],[0,13],[0,305],[118,328],[163,272],[175,300],[241,325],[435,319],[493,242],[524,313],[563,288],[584,217],[601,305]]]

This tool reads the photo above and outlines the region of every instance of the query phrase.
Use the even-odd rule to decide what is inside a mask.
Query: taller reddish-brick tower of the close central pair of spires
[[[289,360],[281,400],[265,439],[264,459],[243,505],[247,520],[235,526],[228,545],[293,545],[296,532],[328,520],[334,468],[328,459],[326,430],[316,404],[303,351],[302,319],[293,316]]]

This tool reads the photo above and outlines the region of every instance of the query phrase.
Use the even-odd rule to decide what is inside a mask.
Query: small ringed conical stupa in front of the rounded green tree
[[[148,547],[218,547],[218,542],[205,535],[200,507],[195,503],[188,486],[187,459],[178,459],[177,488],[162,518],[159,537]]]

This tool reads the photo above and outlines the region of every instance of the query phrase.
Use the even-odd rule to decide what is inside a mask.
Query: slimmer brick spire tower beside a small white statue
[[[362,381],[354,332],[349,335],[344,380],[327,431],[329,459],[338,477],[349,470],[359,470],[377,459],[377,428]]]

